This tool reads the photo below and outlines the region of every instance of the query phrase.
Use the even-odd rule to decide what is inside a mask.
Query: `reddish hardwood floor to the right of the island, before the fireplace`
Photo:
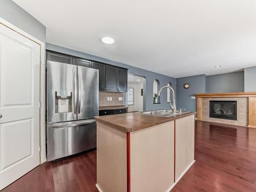
[[[193,166],[172,191],[256,191],[256,129],[198,121]]]

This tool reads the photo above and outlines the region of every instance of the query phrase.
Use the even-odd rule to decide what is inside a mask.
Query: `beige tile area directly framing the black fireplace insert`
[[[218,119],[209,117],[209,101],[237,101],[237,120]],[[248,125],[248,97],[216,97],[202,98],[202,121],[225,123],[232,125]]]

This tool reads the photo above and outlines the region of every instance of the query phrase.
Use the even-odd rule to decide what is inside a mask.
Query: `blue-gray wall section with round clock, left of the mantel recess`
[[[187,111],[197,111],[197,100],[191,99],[195,93],[205,93],[206,90],[206,76],[196,75],[189,77],[182,77],[176,79],[177,90],[177,109],[186,109]],[[183,85],[190,84],[189,89],[185,89]]]

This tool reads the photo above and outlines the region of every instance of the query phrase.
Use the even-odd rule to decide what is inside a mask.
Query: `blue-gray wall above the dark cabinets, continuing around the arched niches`
[[[83,53],[83,52],[79,52],[79,51],[75,51],[75,50],[71,50],[71,49],[67,49],[64,47],[60,47],[57,45],[53,45],[53,44],[46,44],[46,49],[47,50],[51,50],[51,51],[57,51],[60,53],[65,53],[65,54],[69,54],[69,55],[74,55],[77,57],[82,57],[82,58],[87,58],[87,59],[91,59],[91,60],[95,60],[95,61],[99,61],[99,62],[104,62],[104,63],[108,63],[110,65],[115,65],[118,67],[123,67],[123,68],[127,68],[128,69],[128,73],[134,74],[134,75],[138,75],[138,76],[143,76],[146,78],[146,82],[145,82],[145,89],[144,89],[144,97],[143,97],[143,102],[144,102],[144,111],[149,111],[149,110],[156,110],[156,109],[168,109],[169,108],[169,104],[167,103],[167,92],[166,90],[163,90],[162,94],[161,94],[161,98],[160,98],[160,102],[159,104],[153,104],[153,81],[155,79],[158,79],[160,81],[160,87],[163,86],[167,86],[168,82],[171,82],[173,84],[173,88],[174,90],[176,90],[176,79],[173,77],[168,77],[166,75],[162,75],[162,74],[158,74],[155,72],[151,72],[151,71],[147,71],[147,70],[143,70],[140,68],[136,68],[133,66],[129,66],[126,65],[124,63],[121,62],[116,62],[116,61],[112,61],[109,59],[105,59],[102,57],[97,57],[94,55],[90,55],[87,53]]]

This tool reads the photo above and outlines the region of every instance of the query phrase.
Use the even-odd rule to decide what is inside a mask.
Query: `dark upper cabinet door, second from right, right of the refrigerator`
[[[117,91],[117,68],[105,66],[106,68],[106,91]]]

